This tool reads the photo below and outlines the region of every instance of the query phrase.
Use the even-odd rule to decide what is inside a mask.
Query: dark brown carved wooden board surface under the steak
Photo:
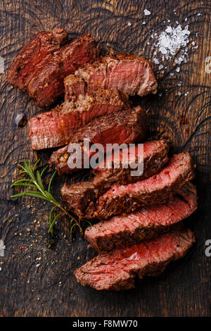
[[[150,16],[143,15],[145,8],[151,11]],[[205,58],[211,56],[210,1],[4,0],[0,11],[0,55],[5,61],[5,73],[0,74],[0,239],[6,245],[5,256],[0,258],[4,262],[0,266],[0,316],[209,316],[210,258],[205,256],[205,241],[211,236],[211,74],[205,72]],[[173,58],[165,61],[163,75],[158,65],[153,65],[162,96],[135,101],[148,110],[149,137],[169,137],[172,151],[188,150],[193,156],[199,208],[185,223],[196,233],[197,242],[184,259],[170,264],[160,277],[137,280],[136,289],[96,292],[77,284],[72,274],[94,256],[87,242],[79,235],[71,242],[68,222],[61,220],[52,249],[47,249],[49,204],[10,199],[11,182],[18,178],[17,163],[23,158],[37,159],[30,149],[27,126],[16,127],[15,117],[24,111],[30,118],[40,110],[27,94],[6,83],[6,73],[30,37],[54,27],[64,27],[70,38],[89,32],[105,52],[130,52],[152,61],[156,47],[151,35],[165,30],[167,19],[171,25],[176,20],[183,27],[188,24],[190,39],[198,49],[191,49],[189,44],[187,62],[181,64],[179,73],[174,70]],[[181,115],[186,117],[185,125]],[[46,162],[46,155],[41,157]],[[57,196],[63,182],[54,182]]]

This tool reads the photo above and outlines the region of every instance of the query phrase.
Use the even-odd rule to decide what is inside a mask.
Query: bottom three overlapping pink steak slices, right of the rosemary
[[[196,188],[190,182],[191,157],[181,153],[171,156],[168,162],[163,157],[162,161],[161,170],[153,168],[154,175],[149,162],[142,178],[127,177],[130,183],[122,185],[117,176],[120,182],[113,184],[111,180],[110,189],[107,180],[112,170],[103,169],[101,185],[106,184],[106,192],[95,184],[101,169],[93,170],[96,177],[91,182],[64,185],[61,189],[66,206],[78,216],[101,220],[85,232],[100,254],[75,270],[82,285],[98,290],[130,289],[135,275],[159,275],[170,261],[184,256],[192,246],[193,232],[179,224],[197,208]]]

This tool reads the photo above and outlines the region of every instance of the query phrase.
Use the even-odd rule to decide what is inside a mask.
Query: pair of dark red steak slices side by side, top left
[[[63,96],[64,77],[98,54],[91,35],[68,42],[64,29],[40,32],[15,57],[7,80],[15,88],[27,89],[39,107],[47,107]]]

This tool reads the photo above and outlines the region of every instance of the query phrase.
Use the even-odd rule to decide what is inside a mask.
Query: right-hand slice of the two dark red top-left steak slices
[[[80,65],[98,56],[98,48],[90,35],[82,35],[61,47],[53,58],[44,63],[27,85],[29,96],[39,107],[47,107],[64,94],[64,77]]]

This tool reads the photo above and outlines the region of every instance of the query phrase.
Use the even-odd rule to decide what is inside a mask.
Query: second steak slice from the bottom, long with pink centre
[[[151,239],[170,230],[172,225],[190,216],[197,208],[196,188],[191,182],[164,205],[142,208],[127,216],[115,216],[88,227],[85,238],[96,251],[123,248],[143,239]]]

